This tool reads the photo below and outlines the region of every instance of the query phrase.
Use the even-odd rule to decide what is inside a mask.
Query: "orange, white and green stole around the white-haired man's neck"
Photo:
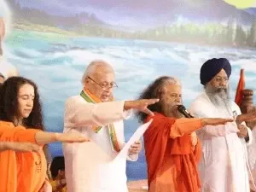
[[[99,102],[101,102],[101,100],[99,98],[97,98],[96,96],[91,94],[90,91],[87,90],[87,89],[82,90],[81,93],[80,93],[80,96],[82,96],[86,102],[90,102],[90,103],[99,103]],[[99,131],[102,130],[102,126],[93,126],[92,129],[96,133],[98,133]],[[120,151],[119,142],[117,140],[113,124],[108,125],[108,133],[109,133],[111,143],[113,145],[113,149],[116,152],[119,152]]]

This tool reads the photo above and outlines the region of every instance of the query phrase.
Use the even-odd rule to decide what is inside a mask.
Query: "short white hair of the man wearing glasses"
[[[96,73],[97,67],[106,67],[113,71],[113,67],[107,62],[102,60],[91,61],[90,64],[86,67],[81,83],[84,84],[85,79],[93,73]]]

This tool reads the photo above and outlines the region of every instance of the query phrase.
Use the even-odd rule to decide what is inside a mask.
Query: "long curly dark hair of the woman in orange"
[[[14,122],[15,117],[19,115],[18,91],[23,84],[33,86],[35,97],[32,112],[26,119],[23,119],[22,123],[26,128],[44,130],[38,86],[32,80],[22,77],[9,78],[0,86],[0,120]]]

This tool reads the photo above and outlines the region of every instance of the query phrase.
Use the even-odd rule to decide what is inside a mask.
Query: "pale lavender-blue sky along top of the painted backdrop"
[[[9,0],[21,7],[41,9],[54,15],[93,13],[100,20],[113,26],[162,26],[177,20],[180,13],[189,19],[199,20],[210,15],[218,20],[229,12],[230,4],[223,0]],[[232,0],[230,0],[232,1]],[[212,9],[219,5],[218,9]],[[205,9],[206,8],[206,9]],[[227,10],[227,11],[226,11]],[[205,13],[204,13],[205,12]],[[256,11],[250,9],[250,14]]]

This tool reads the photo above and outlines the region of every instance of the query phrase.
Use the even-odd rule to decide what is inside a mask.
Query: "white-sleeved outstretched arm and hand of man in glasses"
[[[120,102],[84,102],[79,97],[71,97],[65,107],[65,127],[104,126],[130,117],[130,109],[153,115],[148,105],[158,99],[143,99]]]

